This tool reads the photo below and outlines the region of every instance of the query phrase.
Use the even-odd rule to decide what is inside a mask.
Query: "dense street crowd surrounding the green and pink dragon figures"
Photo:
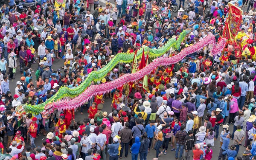
[[[42,104],[62,86],[78,87],[118,53],[134,53],[143,46],[162,48],[186,29],[191,32],[180,47],[163,57],[175,56],[209,34],[218,42],[228,2],[247,12],[236,39],[221,53],[209,56],[206,46],[174,65],[157,67],[149,74],[148,90],[140,79],[96,95],[77,109],[49,115],[19,115],[15,110],[21,104]],[[256,160],[254,0],[189,0],[188,8],[180,0],[177,15],[172,1],[36,3],[36,9],[27,11],[17,11],[14,0],[0,8],[2,160],[146,160],[150,152],[153,160],[172,152],[175,160]],[[206,14],[207,5],[211,10]],[[243,53],[244,39],[249,54]],[[63,67],[54,70],[57,62]],[[134,65],[119,63],[92,85],[132,73]],[[15,90],[10,90],[11,81],[16,82]],[[111,112],[106,112],[109,107]],[[75,118],[76,112],[83,119]],[[36,147],[35,140],[41,136],[46,138]],[[220,151],[213,153],[212,147]]]

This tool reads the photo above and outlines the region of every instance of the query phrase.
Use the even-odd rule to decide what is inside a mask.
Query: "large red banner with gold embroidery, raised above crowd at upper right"
[[[241,25],[243,11],[231,3],[228,3],[228,6],[229,13],[225,22],[222,37],[227,39],[227,44],[232,44]]]

